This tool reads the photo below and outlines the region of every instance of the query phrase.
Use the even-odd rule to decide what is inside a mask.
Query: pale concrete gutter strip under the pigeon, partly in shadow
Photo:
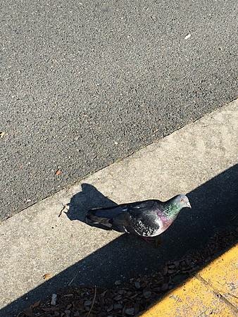
[[[0,315],[14,316],[57,287],[109,287],[115,280],[150,272],[199,249],[214,232],[232,224],[237,214],[237,122],[234,101],[4,221]],[[181,213],[165,232],[160,249],[82,222],[87,209],[101,204],[168,199],[177,193],[189,193],[193,209]]]

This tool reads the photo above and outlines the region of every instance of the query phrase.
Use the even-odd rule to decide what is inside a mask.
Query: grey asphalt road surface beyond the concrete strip
[[[2,0],[1,219],[234,99],[236,5]]]

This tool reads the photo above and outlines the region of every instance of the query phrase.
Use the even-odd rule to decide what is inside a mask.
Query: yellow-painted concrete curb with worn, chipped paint
[[[142,317],[238,316],[238,246],[168,293]]]

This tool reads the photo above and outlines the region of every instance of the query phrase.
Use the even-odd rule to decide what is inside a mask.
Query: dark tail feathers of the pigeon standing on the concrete
[[[104,209],[91,209],[88,211],[85,221],[88,225],[103,228],[107,230],[112,229],[112,221],[108,212]]]

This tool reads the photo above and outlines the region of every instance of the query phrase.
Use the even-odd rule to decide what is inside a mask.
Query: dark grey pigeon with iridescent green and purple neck
[[[185,207],[192,208],[187,196],[180,194],[168,201],[150,199],[91,209],[85,221],[99,228],[139,235],[149,242],[167,230]]]

